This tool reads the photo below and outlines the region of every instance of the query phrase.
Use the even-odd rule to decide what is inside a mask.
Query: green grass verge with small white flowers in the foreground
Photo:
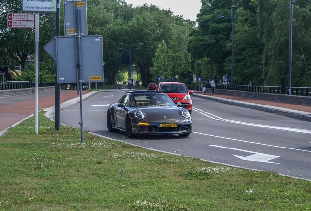
[[[39,112],[0,137],[0,210],[302,211],[311,182],[149,151]]]

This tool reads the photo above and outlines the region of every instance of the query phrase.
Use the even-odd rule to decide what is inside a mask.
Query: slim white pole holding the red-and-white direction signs
[[[35,73],[35,132],[38,135],[38,101],[39,101],[39,14],[35,14],[35,42],[36,42],[36,73]]]

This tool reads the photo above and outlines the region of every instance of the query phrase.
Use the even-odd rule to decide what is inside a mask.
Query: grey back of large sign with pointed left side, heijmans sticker
[[[44,46],[44,50],[57,62],[57,82],[76,83],[77,63],[74,36],[55,37]],[[81,37],[81,80],[103,82],[103,44],[101,35]]]

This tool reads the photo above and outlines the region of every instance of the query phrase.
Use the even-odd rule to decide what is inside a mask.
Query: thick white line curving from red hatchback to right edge
[[[248,126],[254,126],[254,127],[263,127],[263,128],[268,128],[268,129],[278,129],[278,130],[283,130],[283,131],[289,131],[289,132],[298,132],[298,133],[307,133],[311,134],[311,130],[307,129],[299,129],[299,128],[290,128],[290,127],[279,127],[279,126],[269,126],[269,125],[261,125],[261,124],[256,124],[256,123],[246,123],[246,122],[241,122],[241,121],[236,121],[236,120],[229,120],[229,119],[223,119],[219,116],[216,116],[214,114],[208,113],[206,111],[202,111],[198,108],[194,108],[194,111],[197,111],[198,113],[207,116],[211,119],[218,120],[218,121],[223,121],[223,122],[228,122],[228,123],[236,123],[236,124],[241,124],[241,125],[248,125]]]

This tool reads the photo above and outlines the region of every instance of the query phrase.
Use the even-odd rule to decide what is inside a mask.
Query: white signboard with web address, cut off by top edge
[[[28,12],[56,12],[57,0],[22,0],[22,11]]]

